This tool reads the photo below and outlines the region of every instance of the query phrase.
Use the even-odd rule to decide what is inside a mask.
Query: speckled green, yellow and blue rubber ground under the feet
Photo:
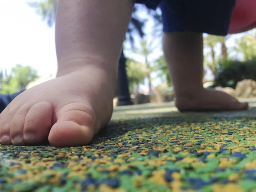
[[[256,108],[126,109],[87,146],[0,145],[0,192],[256,192]]]

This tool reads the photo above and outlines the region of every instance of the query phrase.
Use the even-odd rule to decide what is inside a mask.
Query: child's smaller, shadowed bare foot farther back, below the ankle
[[[239,102],[236,98],[223,91],[208,89],[177,96],[175,98],[175,105],[182,112],[232,111],[248,108],[247,102]]]

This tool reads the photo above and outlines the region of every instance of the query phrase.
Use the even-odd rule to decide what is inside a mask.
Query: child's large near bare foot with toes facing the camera
[[[104,70],[89,65],[26,90],[0,114],[0,143],[89,143],[111,119],[114,84]]]

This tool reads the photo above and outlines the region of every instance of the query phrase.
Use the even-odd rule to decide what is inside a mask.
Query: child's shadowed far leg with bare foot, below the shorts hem
[[[195,32],[164,33],[163,50],[180,111],[247,109],[227,93],[203,87],[203,36]]]

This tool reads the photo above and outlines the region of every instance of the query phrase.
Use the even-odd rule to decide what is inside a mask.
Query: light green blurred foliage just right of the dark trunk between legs
[[[146,75],[146,68],[142,63],[134,61],[131,58],[127,58],[126,71],[129,81],[129,90],[130,93],[133,93],[134,85],[138,87],[140,83],[143,83]]]

